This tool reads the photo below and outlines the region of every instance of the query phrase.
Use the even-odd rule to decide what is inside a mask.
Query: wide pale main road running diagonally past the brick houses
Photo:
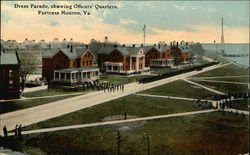
[[[147,84],[130,83],[125,86],[124,92],[123,91],[116,91],[114,93],[92,92],[86,95],[80,95],[77,97],[72,97],[69,99],[64,99],[36,107],[5,113],[0,115],[0,126],[6,125],[7,128],[10,130],[14,129],[16,124],[22,124],[24,126],[27,126],[37,122],[45,121],[50,118],[75,112],[84,108],[92,107],[107,101],[118,99],[120,97],[134,94],[136,92],[140,92],[146,89],[170,83],[176,80],[184,79],[186,77],[210,71],[222,66],[224,65],[218,64],[204,68],[203,70],[200,71],[192,71],[176,75],[170,78],[150,82]]]

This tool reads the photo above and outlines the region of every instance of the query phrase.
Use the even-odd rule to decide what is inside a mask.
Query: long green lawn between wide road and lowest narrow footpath
[[[172,113],[199,110],[191,101],[160,99],[129,95],[112,100],[91,108],[66,114],[61,117],[40,122],[26,127],[27,130],[100,122],[103,118],[112,115],[133,115],[137,117],[165,115]]]

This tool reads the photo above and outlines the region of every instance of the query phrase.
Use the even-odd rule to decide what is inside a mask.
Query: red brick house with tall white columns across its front
[[[118,74],[133,74],[148,71],[145,67],[144,49],[114,45],[102,47],[98,53],[98,67],[101,71]]]

